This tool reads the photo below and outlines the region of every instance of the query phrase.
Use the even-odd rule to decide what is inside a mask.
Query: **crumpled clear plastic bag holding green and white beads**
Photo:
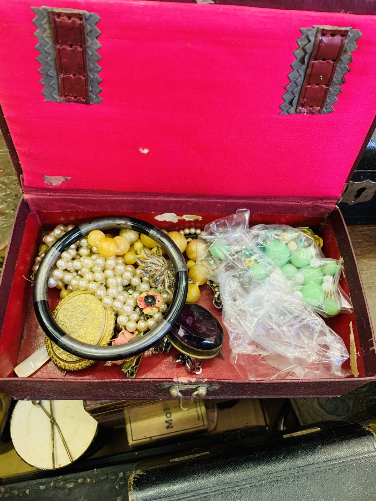
[[[248,217],[247,211],[242,210],[229,218],[214,221],[206,226],[198,245],[198,264],[205,267],[209,278],[220,284],[232,363],[242,377],[248,379],[348,375],[349,372],[342,368],[348,358],[342,339],[316,313],[324,306],[324,299],[307,302],[301,293],[301,288],[308,284],[304,284],[301,275],[303,279],[312,276],[316,280],[313,283],[325,292],[321,287],[325,275],[321,277],[320,272],[314,272],[316,269],[322,272],[324,266],[333,267],[330,277],[335,278],[330,287],[334,293],[339,263],[324,258],[313,239],[299,230],[281,225],[248,228]],[[274,243],[287,245],[288,242],[283,241],[287,239],[284,235],[287,231],[292,235],[288,241],[296,243],[296,247],[290,245],[294,249],[288,249],[288,253],[285,247]],[[283,268],[292,264],[290,256],[296,249],[306,248],[309,255],[305,252],[294,255],[294,261],[300,265],[303,261],[297,262],[297,259],[304,258],[308,260],[306,266],[314,271],[295,271],[295,268],[304,268],[295,265],[287,270]],[[316,268],[312,266],[316,262],[310,263],[312,259],[320,260]],[[316,275],[322,278],[321,284],[317,283]],[[348,298],[338,287],[336,290],[339,291],[336,301],[349,311]],[[322,313],[327,315],[327,311]]]

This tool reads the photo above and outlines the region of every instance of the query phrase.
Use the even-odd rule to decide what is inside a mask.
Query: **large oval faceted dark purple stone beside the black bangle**
[[[211,350],[219,350],[223,343],[223,329],[218,320],[205,308],[196,304],[185,304],[169,335],[182,349],[202,350],[211,356]],[[217,353],[213,353],[215,356]]]

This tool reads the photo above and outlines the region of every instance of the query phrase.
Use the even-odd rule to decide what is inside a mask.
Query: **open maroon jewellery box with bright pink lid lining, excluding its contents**
[[[336,207],[374,129],[376,3],[331,2],[329,13],[319,2],[239,3],[2,3],[3,131],[23,190],[0,290],[0,388],[13,397],[155,399],[172,385],[205,386],[208,398],[329,396],[376,378],[367,305]],[[240,207],[251,224],[310,226],[325,256],[343,259],[340,285],[354,312],[328,322],[353,376],[243,380],[226,335],[225,359],[206,361],[200,376],[187,377],[172,351],[145,355],[133,380],[104,362],[66,375],[49,362],[15,377],[45,342],[27,280],[43,231],[104,215],[167,230],[193,225],[156,218],[167,212],[199,215],[194,225],[204,228]],[[221,318],[209,286],[200,304]]]

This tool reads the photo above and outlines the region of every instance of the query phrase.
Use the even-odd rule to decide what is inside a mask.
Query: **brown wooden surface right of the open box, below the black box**
[[[376,330],[376,224],[350,224],[347,228],[355,250],[373,330]]]

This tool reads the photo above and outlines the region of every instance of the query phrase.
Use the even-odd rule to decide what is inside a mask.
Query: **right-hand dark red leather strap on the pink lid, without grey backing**
[[[347,34],[348,28],[318,29],[296,113],[322,112]]]

